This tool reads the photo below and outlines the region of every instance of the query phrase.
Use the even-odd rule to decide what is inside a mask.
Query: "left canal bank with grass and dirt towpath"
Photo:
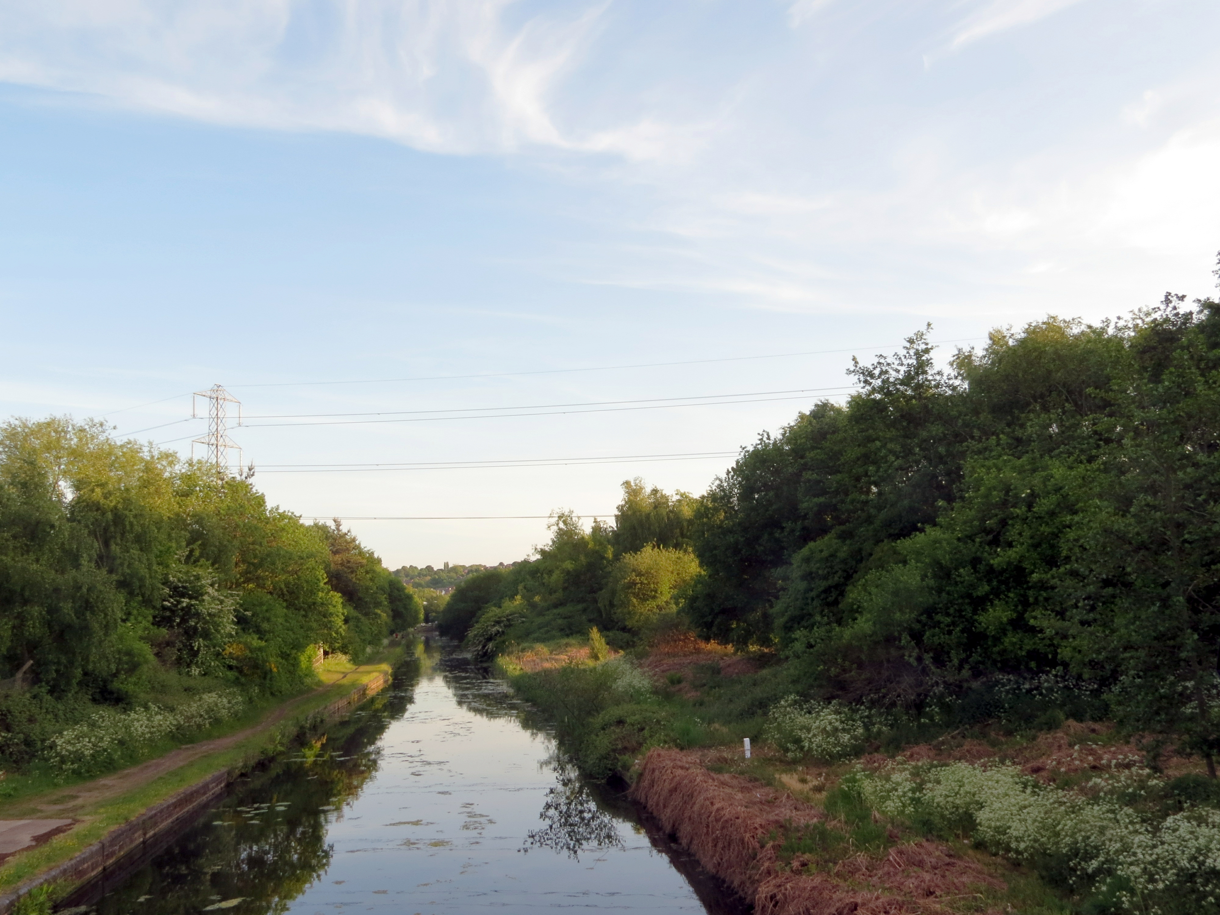
[[[72,826],[45,844],[10,856],[0,866],[0,915],[50,903],[104,874],[143,847],[172,833],[216,802],[228,783],[268,755],[282,752],[301,728],[340,719],[390,682],[403,649],[383,653],[266,714],[237,733],[181,747],[138,766],[40,797],[22,798],[0,819],[66,816]],[[62,821],[61,821],[62,822]]]

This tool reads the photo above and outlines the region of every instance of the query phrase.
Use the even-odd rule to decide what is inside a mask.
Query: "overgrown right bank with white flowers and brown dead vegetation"
[[[588,775],[628,782],[759,913],[1220,911],[1220,789],[1197,758],[1153,769],[1108,722],[1030,727],[1013,695],[952,728],[769,703],[782,665],[661,648],[498,665]],[[911,728],[930,739],[904,743]]]

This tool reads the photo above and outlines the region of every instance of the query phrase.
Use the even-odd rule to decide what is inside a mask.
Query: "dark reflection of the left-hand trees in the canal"
[[[98,915],[281,915],[331,864],[328,816],[355,798],[379,767],[377,743],[414,700],[418,666],[327,730],[305,752],[250,777],[163,852],[98,902]],[[277,806],[279,809],[277,809]],[[216,825],[221,824],[221,825]],[[92,895],[89,888],[83,891]]]

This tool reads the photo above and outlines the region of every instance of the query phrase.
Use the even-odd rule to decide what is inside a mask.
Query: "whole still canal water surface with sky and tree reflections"
[[[744,905],[468,659],[417,647],[325,737],[234,783],[73,915],[712,913]]]

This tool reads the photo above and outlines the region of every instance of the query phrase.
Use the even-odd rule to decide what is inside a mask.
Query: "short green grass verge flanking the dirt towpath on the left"
[[[44,845],[13,855],[6,860],[0,866],[0,893],[7,892],[38,874],[68,860],[82,849],[102,838],[116,826],[121,826],[145,809],[206,778],[214,772],[221,770],[243,770],[256,764],[260,759],[283,750],[292,737],[312,715],[336,699],[367,683],[377,675],[390,672],[394,664],[401,660],[403,656],[403,648],[392,648],[362,665],[328,660],[320,671],[323,686],[312,693],[305,694],[305,697],[296,697],[289,700],[293,704],[292,711],[282,720],[273,725],[260,727],[256,732],[231,747],[184,762],[129,792],[107,798],[95,805],[85,806],[74,813],[74,819],[79,822],[70,832],[52,838]],[[257,711],[250,711],[240,720],[227,722],[227,727],[222,732],[207,736],[223,737],[256,726],[283,704],[277,703],[270,708],[264,706]],[[62,798],[62,793],[71,793],[72,787],[57,784],[54,794]],[[74,787],[83,788],[84,786],[77,784]],[[45,797],[48,794],[24,794],[21,798],[10,799],[0,806],[0,819],[24,819],[32,810],[38,809],[39,800]]]

